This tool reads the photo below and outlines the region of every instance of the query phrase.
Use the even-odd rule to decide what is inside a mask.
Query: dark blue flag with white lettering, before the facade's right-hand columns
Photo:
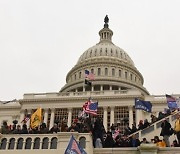
[[[152,112],[152,104],[150,101],[143,101],[135,98],[135,109],[141,109],[146,112]]]

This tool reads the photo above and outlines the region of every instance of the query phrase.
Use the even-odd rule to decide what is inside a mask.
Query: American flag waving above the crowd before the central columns
[[[83,105],[83,110],[86,113],[97,115],[98,102],[92,102],[92,100],[87,101]]]

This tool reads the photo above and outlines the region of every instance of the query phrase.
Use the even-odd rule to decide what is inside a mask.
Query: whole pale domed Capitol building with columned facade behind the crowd
[[[99,31],[100,41],[80,55],[59,92],[28,93],[17,102],[0,104],[0,123],[7,121],[9,125],[16,119],[21,124],[25,116],[41,107],[43,121],[49,128],[64,118],[70,126],[91,97],[98,100],[98,116],[103,119],[105,129],[116,124],[123,130],[126,122],[131,127],[141,119],[150,120],[151,113],[135,110],[135,98],[151,101],[152,113],[156,116],[167,108],[165,95],[150,95],[143,86],[143,75],[128,53],[112,42],[113,31],[108,21],[105,20]],[[95,75],[91,87],[84,85],[85,70]],[[29,127],[29,121],[27,125]]]

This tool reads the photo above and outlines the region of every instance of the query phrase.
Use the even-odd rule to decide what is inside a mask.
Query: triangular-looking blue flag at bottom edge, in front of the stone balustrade
[[[86,151],[78,144],[74,136],[71,136],[69,144],[64,154],[87,154]]]

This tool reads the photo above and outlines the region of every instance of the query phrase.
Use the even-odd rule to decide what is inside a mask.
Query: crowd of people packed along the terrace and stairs
[[[66,120],[62,120],[60,127],[57,123],[51,129],[48,129],[46,123],[42,123],[39,127],[34,129],[27,128],[26,123],[22,126],[18,125],[17,122],[13,125],[8,126],[7,122],[3,122],[3,125],[0,129],[2,134],[47,134],[47,133],[57,133],[57,132],[79,132],[79,133],[91,133],[93,138],[93,146],[95,148],[110,148],[110,147],[138,147],[142,143],[154,143],[160,147],[179,147],[180,146],[180,115],[177,116],[175,126],[171,126],[166,117],[170,115],[171,112],[159,113],[159,116],[156,117],[151,115],[151,122],[148,122],[147,119],[140,120],[139,124],[136,127],[136,124],[133,123],[130,128],[128,123],[126,124],[124,130],[120,130],[118,125],[112,124],[110,129],[106,132],[103,126],[101,118],[96,118],[95,122],[92,122],[91,118],[79,118],[74,119],[71,126],[68,127]],[[136,137],[135,132],[143,130],[149,127],[154,122],[164,118],[161,124],[161,133],[157,136],[154,136],[151,141],[147,141],[146,138],[143,138],[142,141]],[[169,137],[175,134],[177,140],[174,140],[172,144],[169,143]],[[162,136],[163,139],[160,140],[159,136]]]

